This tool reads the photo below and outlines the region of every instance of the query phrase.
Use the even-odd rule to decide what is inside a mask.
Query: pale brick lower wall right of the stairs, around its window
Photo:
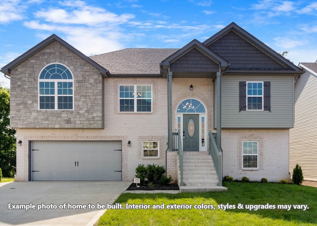
[[[242,167],[242,141],[259,141],[259,169]],[[251,181],[278,182],[289,180],[289,131],[288,130],[222,130],[223,171],[234,180],[248,177]]]

